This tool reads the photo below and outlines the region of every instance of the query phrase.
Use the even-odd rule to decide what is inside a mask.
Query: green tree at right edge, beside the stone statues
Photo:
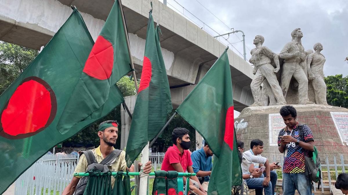
[[[348,76],[332,75],[324,78],[326,100],[333,106],[348,108]]]

